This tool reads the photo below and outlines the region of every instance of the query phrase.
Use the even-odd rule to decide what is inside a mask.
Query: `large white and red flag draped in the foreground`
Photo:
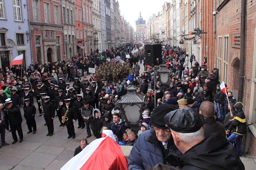
[[[91,142],[61,170],[128,170],[127,160],[112,130],[103,130],[102,136],[105,137]]]

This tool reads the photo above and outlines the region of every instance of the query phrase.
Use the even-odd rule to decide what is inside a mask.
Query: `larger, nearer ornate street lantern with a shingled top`
[[[142,113],[146,103],[144,95],[136,93],[137,88],[134,85],[129,85],[127,94],[122,96],[122,99],[117,104],[122,112],[121,118],[125,122],[125,126],[133,130],[139,130],[142,121]]]

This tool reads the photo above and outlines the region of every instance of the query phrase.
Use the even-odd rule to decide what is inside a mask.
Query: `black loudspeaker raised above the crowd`
[[[146,65],[162,64],[162,44],[145,45],[145,62]]]

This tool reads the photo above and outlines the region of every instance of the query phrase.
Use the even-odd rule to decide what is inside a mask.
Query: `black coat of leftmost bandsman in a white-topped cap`
[[[19,106],[12,105],[12,108],[8,109],[8,119],[11,126],[16,126],[21,124],[22,117],[21,117]]]

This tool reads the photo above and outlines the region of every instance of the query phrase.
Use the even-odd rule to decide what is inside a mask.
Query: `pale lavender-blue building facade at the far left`
[[[29,28],[26,0],[0,0],[0,68],[9,67],[20,54],[23,54],[25,69],[33,62],[30,39],[34,36],[29,34],[32,31],[37,33],[36,29]]]

